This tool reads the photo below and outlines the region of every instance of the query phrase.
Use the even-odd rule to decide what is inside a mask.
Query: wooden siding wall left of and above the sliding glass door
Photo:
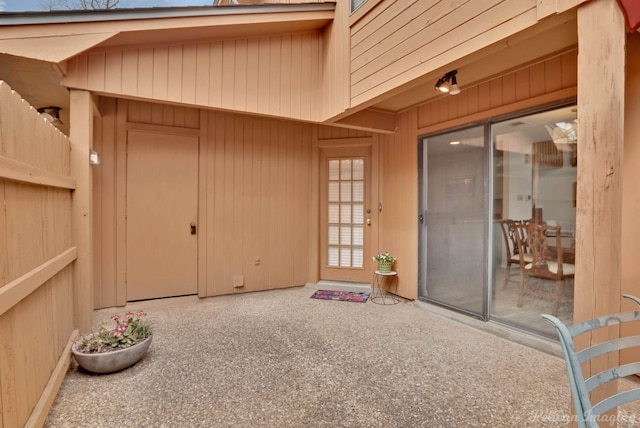
[[[576,62],[576,51],[563,53],[465,87],[459,95],[400,113],[395,134],[381,135],[380,247],[397,254],[402,296],[417,297],[419,136],[575,97]]]

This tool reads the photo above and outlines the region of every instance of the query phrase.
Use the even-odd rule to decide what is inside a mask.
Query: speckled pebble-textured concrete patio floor
[[[566,425],[561,359],[412,302],[380,306],[312,293],[132,305],[154,323],[145,358],[110,375],[72,363],[45,426]]]

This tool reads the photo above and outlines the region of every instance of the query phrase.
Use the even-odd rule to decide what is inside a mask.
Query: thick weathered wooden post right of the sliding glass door
[[[615,0],[579,7],[576,322],[620,310],[625,42]],[[618,330],[597,335],[578,346],[617,337]]]

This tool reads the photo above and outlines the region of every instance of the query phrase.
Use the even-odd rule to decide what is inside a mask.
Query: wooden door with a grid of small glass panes
[[[320,277],[369,282],[371,149],[325,148],[320,162]]]

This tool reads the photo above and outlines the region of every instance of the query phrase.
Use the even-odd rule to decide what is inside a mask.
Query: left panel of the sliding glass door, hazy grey
[[[484,317],[485,128],[422,140],[420,297]]]

